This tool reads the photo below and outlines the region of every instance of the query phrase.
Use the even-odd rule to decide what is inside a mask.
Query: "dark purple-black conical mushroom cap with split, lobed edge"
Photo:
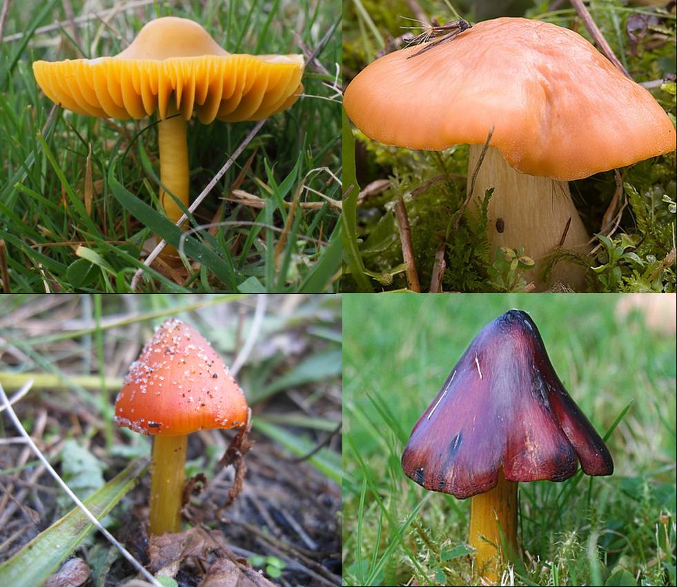
[[[577,460],[611,475],[604,441],[569,397],[536,324],[510,310],[485,326],[423,412],[402,468],[424,488],[460,499],[508,481],[564,481]]]

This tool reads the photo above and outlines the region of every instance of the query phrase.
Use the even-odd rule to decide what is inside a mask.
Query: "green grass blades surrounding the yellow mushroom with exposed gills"
[[[82,0],[72,1],[76,17]],[[333,292],[340,289],[339,0],[215,0],[120,10],[108,26],[90,18],[50,32],[64,21],[61,1],[10,3],[0,46],[0,239],[12,292],[137,291]],[[146,268],[141,247],[160,235],[178,244],[181,233],[159,212],[155,118],[112,121],[57,108],[37,88],[31,64],[112,55],[148,20],[186,17],[201,23],[230,52],[298,53],[321,47],[307,64],[304,97],[266,121],[226,175],[195,210],[186,239],[187,268],[173,275]],[[331,33],[322,43],[325,34]],[[190,201],[226,163],[254,123],[188,128]],[[91,151],[91,155],[90,154]],[[245,163],[251,159],[251,166]],[[91,170],[92,189],[86,188]],[[226,202],[233,183],[260,208]],[[307,188],[307,190],[306,190]],[[302,190],[277,255],[289,205]],[[319,193],[319,195],[318,195]],[[269,228],[272,227],[272,228]],[[277,257],[277,258],[276,258]],[[199,264],[193,263],[199,261]]]

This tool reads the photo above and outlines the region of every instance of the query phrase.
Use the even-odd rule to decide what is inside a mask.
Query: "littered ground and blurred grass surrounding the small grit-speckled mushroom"
[[[246,456],[244,488],[232,506],[219,510],[233,487],[233,467],[217,461],[233,434],[191,435],[186,474],[203,472],[208,486],[184,507],[184,528],[215,530],[221,546],[277,584],[339,585],[341,300],[295,295],[266,302],[256,344],[237,374],[253,410],[255,442]],[[153,326],[170,316],[192,324],[232,365],[257,303],[257,297],[0,297],[0,383],[11,396],[17,386],[12,376],[55,376],[14,408],[41,452],[84,498],[148,455],[150,446],[146,437],[112,427],[117,388],[102,390],[99,373],[105,371],[108,385],[119,385],[115,378],[125,374]],[[79,379],[88,374],[95,377]],[[0,563],[73,507],[17,437],[3,415]],[[106,519],[108,530],[144,564],[148,485],[149,476],[141,475]],[[178,584],[199,584],[223,557],[219,553],[179,556]],[[87,586],[119,585],[135,574],[97,533],[74,555],[86,564]]]

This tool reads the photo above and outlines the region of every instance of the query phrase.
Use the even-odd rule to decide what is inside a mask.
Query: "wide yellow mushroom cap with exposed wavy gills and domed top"
[[[81,115],[165,119],[171,94],[188,120],[259,120],[289,108],[303,86],[302,55],[230,54],[199,24],[164,17],[150,21],[115,57],[35,61],[47,97]]]

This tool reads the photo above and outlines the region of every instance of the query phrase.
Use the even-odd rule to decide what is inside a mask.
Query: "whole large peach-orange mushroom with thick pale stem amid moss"
[[[477,23],[424,52],[387,54],[351,81],[344,106],[382,143],[429,150],[470,143],[468,192],[493,129],[472,197],[494,188],[492,248],[524,245],[536,261],[560,243],[589,250],[567,181],[675,149],[674,126],[645,88],[580,34],[522,18]],[[573,288],[584,277],[571,263],[553,270],[553,281]]]

